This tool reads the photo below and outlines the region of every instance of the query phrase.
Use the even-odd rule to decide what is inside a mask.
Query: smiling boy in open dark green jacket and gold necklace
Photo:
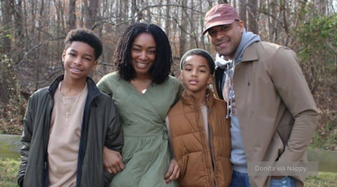
[[[102,53],[88,29],[71,30],[64,75],[29,99],[21,142],[19,186],[108,186],[103,146],[121,152],[123,136],[112,99],[87,77]]]

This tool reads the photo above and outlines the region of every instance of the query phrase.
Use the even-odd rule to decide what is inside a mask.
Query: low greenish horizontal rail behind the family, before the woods
[[[19,158],[20,148],[19,135],[0,135],[0,158]],[[318,171],[337,173],[337,151],[308,150],[308,160],[318,161]]]

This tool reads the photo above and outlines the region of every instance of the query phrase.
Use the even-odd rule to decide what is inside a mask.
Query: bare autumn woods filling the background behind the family
[[[321,116],[310,146],[337,150],[337,0],[1,0],[0,134],[21,134],[29,96],[64,72],[69,30],[85,27],[101,37],[103,54],[91,73],[97,82],[116,69],[111,59],[123,29],[157,24],[173,49],[172,75],[179,75],[187,50],[215,56],[201,33],[205,13],[221,3],[237,8],[247,31],[297,53]]]

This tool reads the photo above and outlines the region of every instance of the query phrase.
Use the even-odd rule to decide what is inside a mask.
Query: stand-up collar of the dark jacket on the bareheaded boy
[[[55,91],[58,88],[59,83],[63,80],[63,78],[64,78],[64,75],[57,77],[53,81],[53,83],[49,86],[48,93],[52,98],[54,97]],[[96,87],[95,82],[90,77],[87,77],[86,81],[88,85],[88,99],[92,100],[93,98],[98,96],[101,92]]]

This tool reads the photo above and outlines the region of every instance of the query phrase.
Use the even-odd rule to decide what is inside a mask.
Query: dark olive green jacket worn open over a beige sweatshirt
[[[30,98],[21,137],[19,186],[48,186],[47,146],[54,93],[63,75],[49,87],[37,90]],[[103,146],[121,152],[123,135],[112,99],[98,90],[87,78],[88,96],[85,103],[76,186],[108,186],[113,174],[103,169]],[[60,138],[62,136],[60,135]]]

